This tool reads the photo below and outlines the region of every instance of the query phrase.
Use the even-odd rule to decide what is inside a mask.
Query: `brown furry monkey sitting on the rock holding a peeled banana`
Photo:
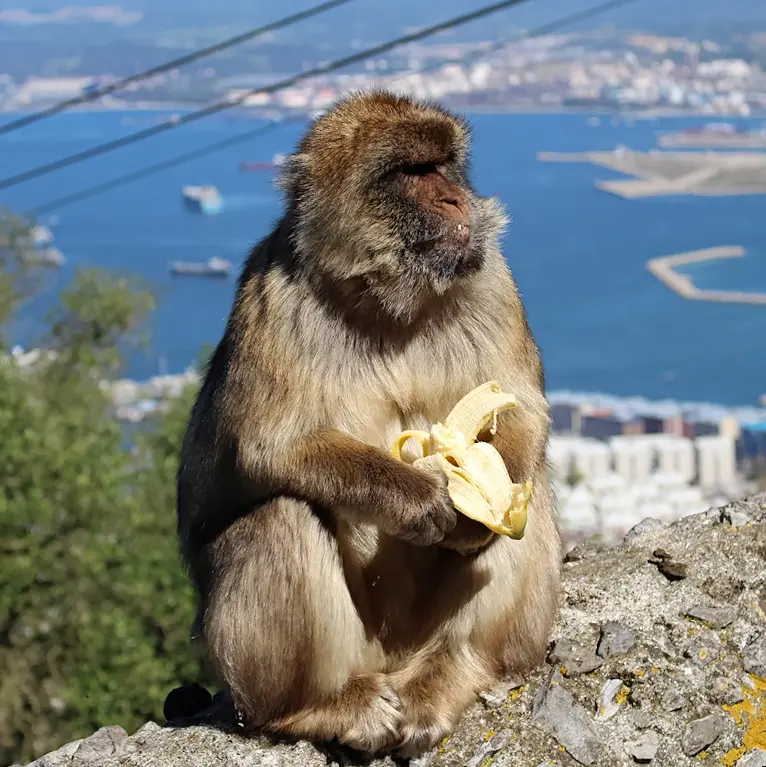
[[[544,657],[551,419],[470,134],[435,102],[343,96],[288,157],[281,217],[239,275],[181,447],[177,529],[245,732],[417,756]],[[518,406],[479,439],[534,482],[520,540],[389,453],[490,379]]]

